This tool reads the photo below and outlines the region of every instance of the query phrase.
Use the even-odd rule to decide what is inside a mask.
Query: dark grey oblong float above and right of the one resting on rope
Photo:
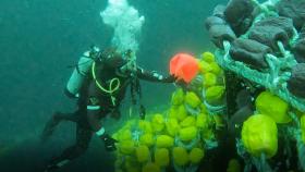
[[[279,51],[278,41],[284,47],[289,45],[286,32],[277,26],[254,26],[249,30],[248,38],[269,46],[273,51]]]

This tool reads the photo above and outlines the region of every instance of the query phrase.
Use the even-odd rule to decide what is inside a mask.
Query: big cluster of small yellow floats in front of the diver
[[[187,91],[176,89],[164,113],[150,113],[145,120],[129,120],[113,134],[119,140],[115,171],[160,172],[172,164],[174,169],[188,171],[199,165],[205,157],[206,144],[216,140],[213,132],[217,123],[202,93],[221,86],[221,69],[213,54],[205,52],[199,63],[202,72],[195,87],[190,87]],[[217,90],[211,91],[211,98],[222,96],[223,91]]]

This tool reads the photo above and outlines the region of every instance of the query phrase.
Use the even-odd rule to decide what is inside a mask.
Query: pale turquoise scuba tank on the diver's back
[[[78,91],[82,88],[89,70],[91,69],[91,65],[99,53],[99,48],[93,46],[89,51],[84,52],[84,54],[80,58],[64,89],[64,93],[68,97],[78,97]]]

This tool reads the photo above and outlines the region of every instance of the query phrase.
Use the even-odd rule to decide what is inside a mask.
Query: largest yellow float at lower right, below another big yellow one
[[[265,114],[254,114],[243,124],[242,142],[246,150],[260,157],[273,157],[278,150],[278,128],[276,122]]]

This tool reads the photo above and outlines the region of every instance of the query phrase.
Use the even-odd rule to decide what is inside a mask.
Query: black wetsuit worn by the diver
[[[152,72],[146,72],[139,67],[134,73],[136,78],[159,82],[159,83],[173,83],[172,77],[163,78]],[[118,69],[110,69],[105,66],[97,66],[98,82],[105,87],[109,87],[109,82],[113,78],[119,78],[120,87],[112,94],[114,97],[114,105],[110,94],[103,93],[97,87],[96,81],[89,77],[80,91],[78,110],[74,113],[57,113],[54,118],[59,121],[66,120],[76,123],[76,143],[75,145],[66,148],[63,153],[53,159],[51,164],[58,164],[64,160],[72,160],[82,155],[88,148],[93,134],[100,130],[100,119],[109,113],[117,113],[123,98],[125,97],[126,88],[132,84],[134,77],[131,73],[119,74]],[[99,106],[98,110],[88,110],[88,106]]]

